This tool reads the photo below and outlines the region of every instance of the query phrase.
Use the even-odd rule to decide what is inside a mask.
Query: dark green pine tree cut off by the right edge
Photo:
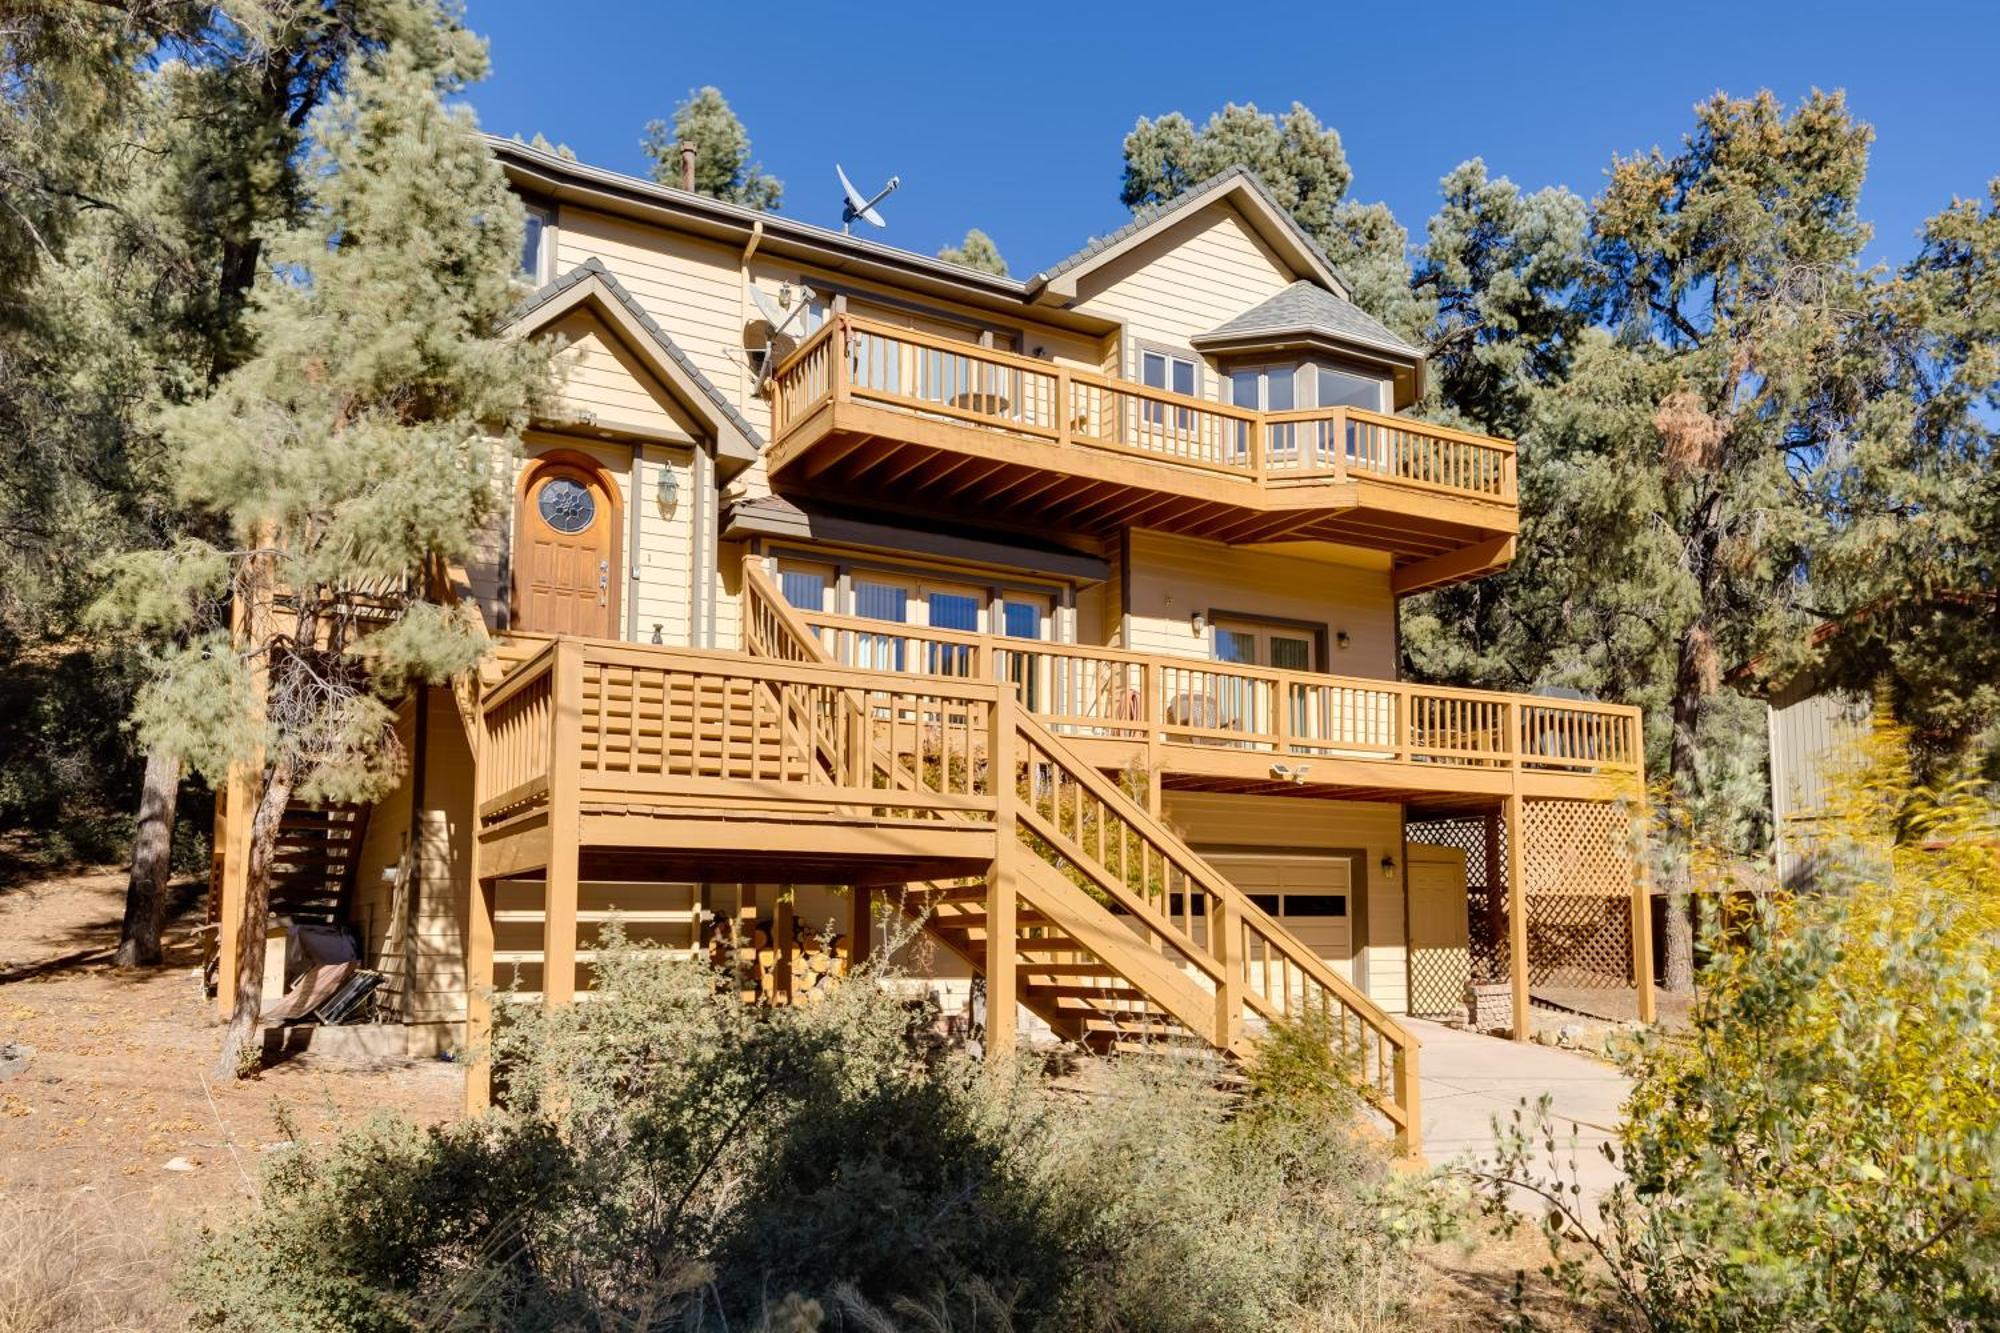
[[[1850,354],[1866,388],[1820,478],[1818,675],[1876,693],[1916,771],[2000,775],[2000,180],[1924,224]]]

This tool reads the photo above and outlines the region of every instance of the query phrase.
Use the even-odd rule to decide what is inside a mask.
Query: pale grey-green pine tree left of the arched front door
[[[382,795],[402,763],[394,701],[484,650],[426,600],[426,572],[494,512],[548,352],[500,336],[522,214],[470,112],[442,100],[482,70],[464,32],[388,44],[314,118],[304,222],[274,242],[248,320],[256,354],[164,416],[180,496],[230,542],[190,536],[106,570],[100,614],[152,640],[136,707],[148,745],[212,783],[252,769],[224,1073],[256,1031],[286,805]]]

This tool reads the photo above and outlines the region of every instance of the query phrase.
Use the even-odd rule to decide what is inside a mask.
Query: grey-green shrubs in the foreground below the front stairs
[[[874,973],[758,1011],[610,931],[496,1033],[506,1109],[294,1147],[206,1235],[196,1327],[1354,1329],[1394,1313],[1352,1101],[1126,1059],[1090,1097],[912,1033]],[[1322,1067],[1320,1075],[1328,1071]]]

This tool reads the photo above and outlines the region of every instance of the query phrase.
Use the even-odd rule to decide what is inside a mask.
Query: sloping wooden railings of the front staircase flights
[[[778,652],[786,662],[830,654],[822,636],[828,626],[788,606],[756,558],[744,562],[742,586],[748,650]],[[960,660],[970,666],[982,658],[966,652]],[[994,779],[994,795],[1002,823],[1012,817],[1022,845],[1110,901],[1128,921],[1132,949],[1150,965],[1164,955],[1214,993],[1204,1037],[1218,1049],[1238,1051],[1246,1037],[1254,1039],[1250,1019],[1322,1023],[1356,1087],[1414,1151],[1422,1133],[1416,1039],[1014,699],[1002,695],[1000,707],[998,725],[1008,729],[1010,717],[1012,737],[996,753],[1012,761],[1004,765],[1010,775]],[[896,753],[894,737],[884,749]],[[906,767],[900,757],[892,763]],[[1126,975],[1144,971],[1132,967]]]

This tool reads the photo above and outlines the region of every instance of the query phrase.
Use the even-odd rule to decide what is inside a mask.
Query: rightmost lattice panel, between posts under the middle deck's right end
[[[1632,817],[1620,803],[1524,803],[1530,985],[1632,985]]]

